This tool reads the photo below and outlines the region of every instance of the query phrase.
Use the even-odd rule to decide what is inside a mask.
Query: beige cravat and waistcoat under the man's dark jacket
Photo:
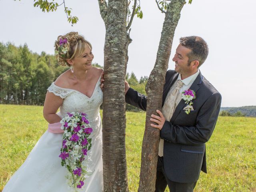
[[[162,113],[164,115],[164,118],[167,121],[170,121],[176,106],[178,105],[178,103],[181,100],[180,88],[182,88],[183,85],[184,85],[184,83],[181,80],[176,80],[176,82],[174,84],[174,88],[173,87],[170,88],[170,91],[168,92],[168,94],[166,96],[166,99],[164,101],[164,106],[162,107]],[[158,155],[160,157],[162,157],[163,153],[164,153],[164,140],[160,139]]]

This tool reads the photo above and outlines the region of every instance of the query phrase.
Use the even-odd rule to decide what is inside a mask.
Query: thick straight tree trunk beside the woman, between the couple
[[[124,79],[127,52],[126,0],[98,0],[106,26],[103,94],[104,192],[128,192]]]

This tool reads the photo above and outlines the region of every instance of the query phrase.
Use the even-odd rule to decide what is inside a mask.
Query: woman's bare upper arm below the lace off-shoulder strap
[[[62,105],[63,99],[59,96],[54,95],[47,91],[46,97],[44,100],[44,118],[48,123],[57,123],[60,122],[61,118],[56,114],[58,108]]]

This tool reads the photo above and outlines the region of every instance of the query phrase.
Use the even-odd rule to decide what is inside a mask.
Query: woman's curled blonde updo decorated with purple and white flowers
[[[58,64],[70,67],[67,59],[82,55],[87,46],[92,50],[90,42],[86,41],[82,35],[78,35],[78,32],[70,32],[66,35],[58,36],[58,40],[55,41],[54,45]]]

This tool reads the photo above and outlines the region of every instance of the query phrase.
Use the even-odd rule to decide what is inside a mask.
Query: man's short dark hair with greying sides
[[[194,60],[199,61],[198,67],[200,67],[208,56],[208,45],[205,40],[198,36],[181,37],[180,44],[191,51],[187,54],[188,65]]]

